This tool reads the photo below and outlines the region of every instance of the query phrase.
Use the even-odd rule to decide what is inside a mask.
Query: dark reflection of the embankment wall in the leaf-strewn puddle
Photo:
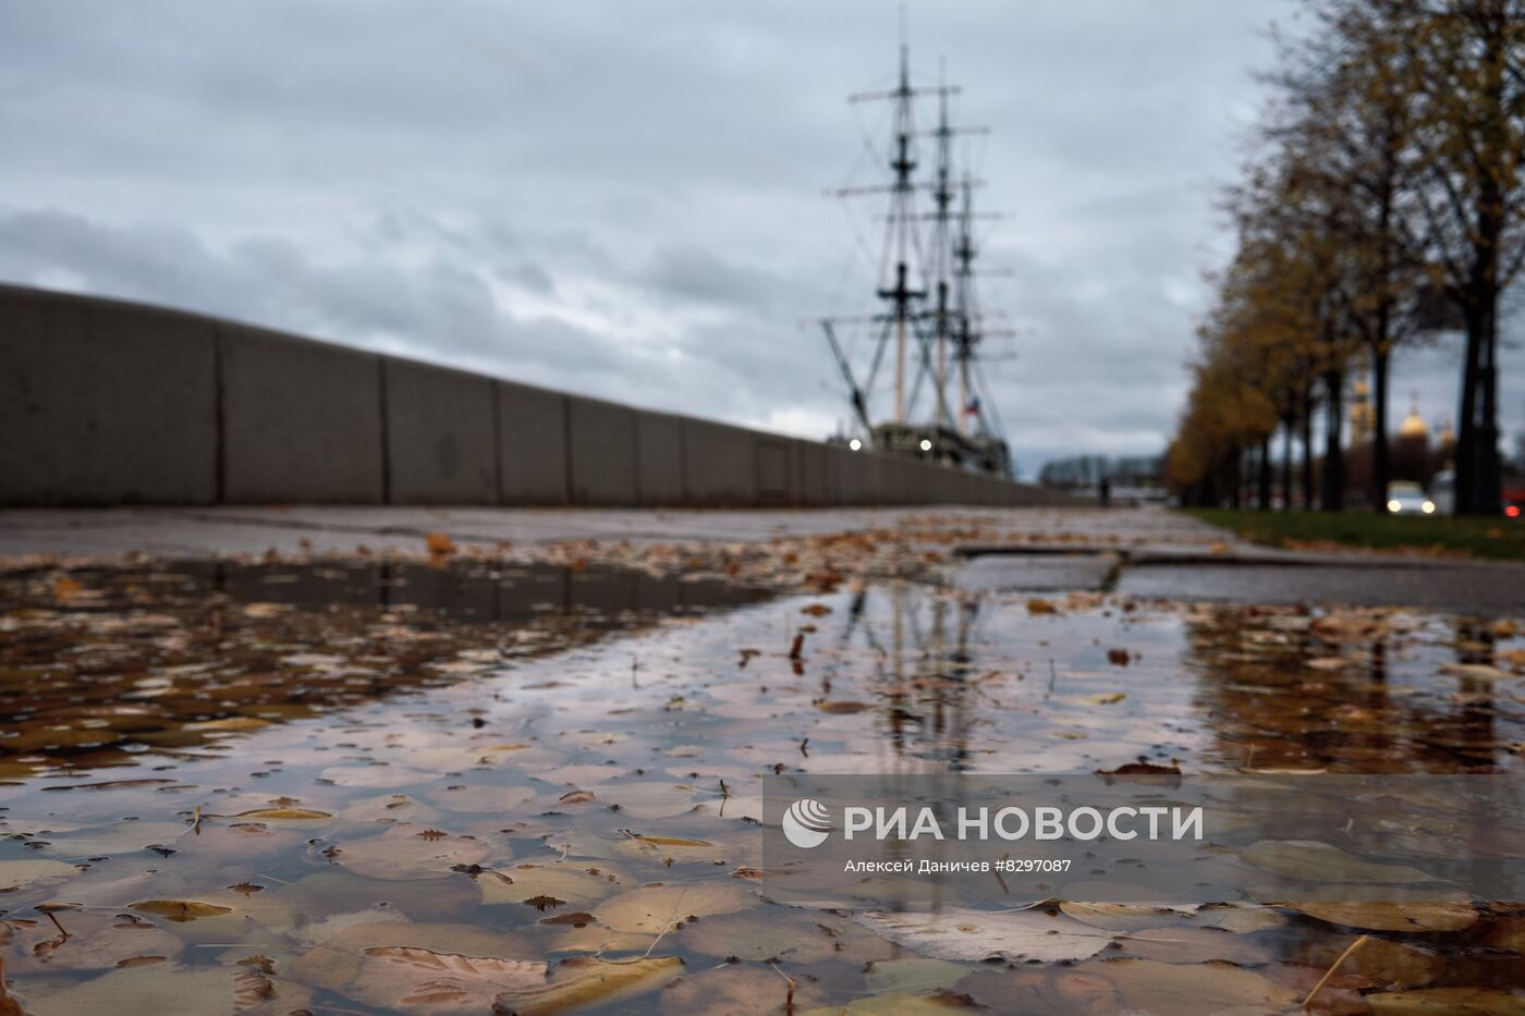
[[[131,764],[767,592],[462,560],[0,575],[0,775]]]

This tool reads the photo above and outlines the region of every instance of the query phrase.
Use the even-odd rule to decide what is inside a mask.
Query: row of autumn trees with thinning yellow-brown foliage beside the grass
[[[1456,510],[1494,513],[1498,307],[1525,261],[1525,0],[1310,6],[1313,31],[1284,43],[1267,75],[1261,153],[1229,191],[1238,249],[1200,333],[1171,477],[1197,500],[1237,500],[1237,473],[1228,491],[1202,481],[1222,487],[1254,452],[1260,502],[1269,503],[1269,436],[1209,409],[1223,398],[1217,386],[1244,381],[1206,369],[1261,363],[1250,387],[1275,406],[1283,430],[1284,503],[1293,500],[1295,430],[1302,500],[1312,503],[1318,407],[1319,503],[1344,506],[1344,386],[1359,362],[1374,381],[1366,499],[1380,510],[1391,476],[1389,358],[1403,343],[1459,328]],[[1206,426],[1223,430],[1205,435]]]

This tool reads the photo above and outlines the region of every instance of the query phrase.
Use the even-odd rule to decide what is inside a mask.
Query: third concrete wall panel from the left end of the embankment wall
[[[490,378],[386,358],[387,490],[395,505],[497,503]]]

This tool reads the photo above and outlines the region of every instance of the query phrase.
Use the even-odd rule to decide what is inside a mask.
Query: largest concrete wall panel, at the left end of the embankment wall
[[[0,503],[210,503],[217,441],[210,320],[0,287]]]

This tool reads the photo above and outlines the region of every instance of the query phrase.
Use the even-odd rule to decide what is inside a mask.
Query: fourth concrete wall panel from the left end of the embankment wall
[[[497,450],[500,503],[567,503],[566,395],[497,381]]]

